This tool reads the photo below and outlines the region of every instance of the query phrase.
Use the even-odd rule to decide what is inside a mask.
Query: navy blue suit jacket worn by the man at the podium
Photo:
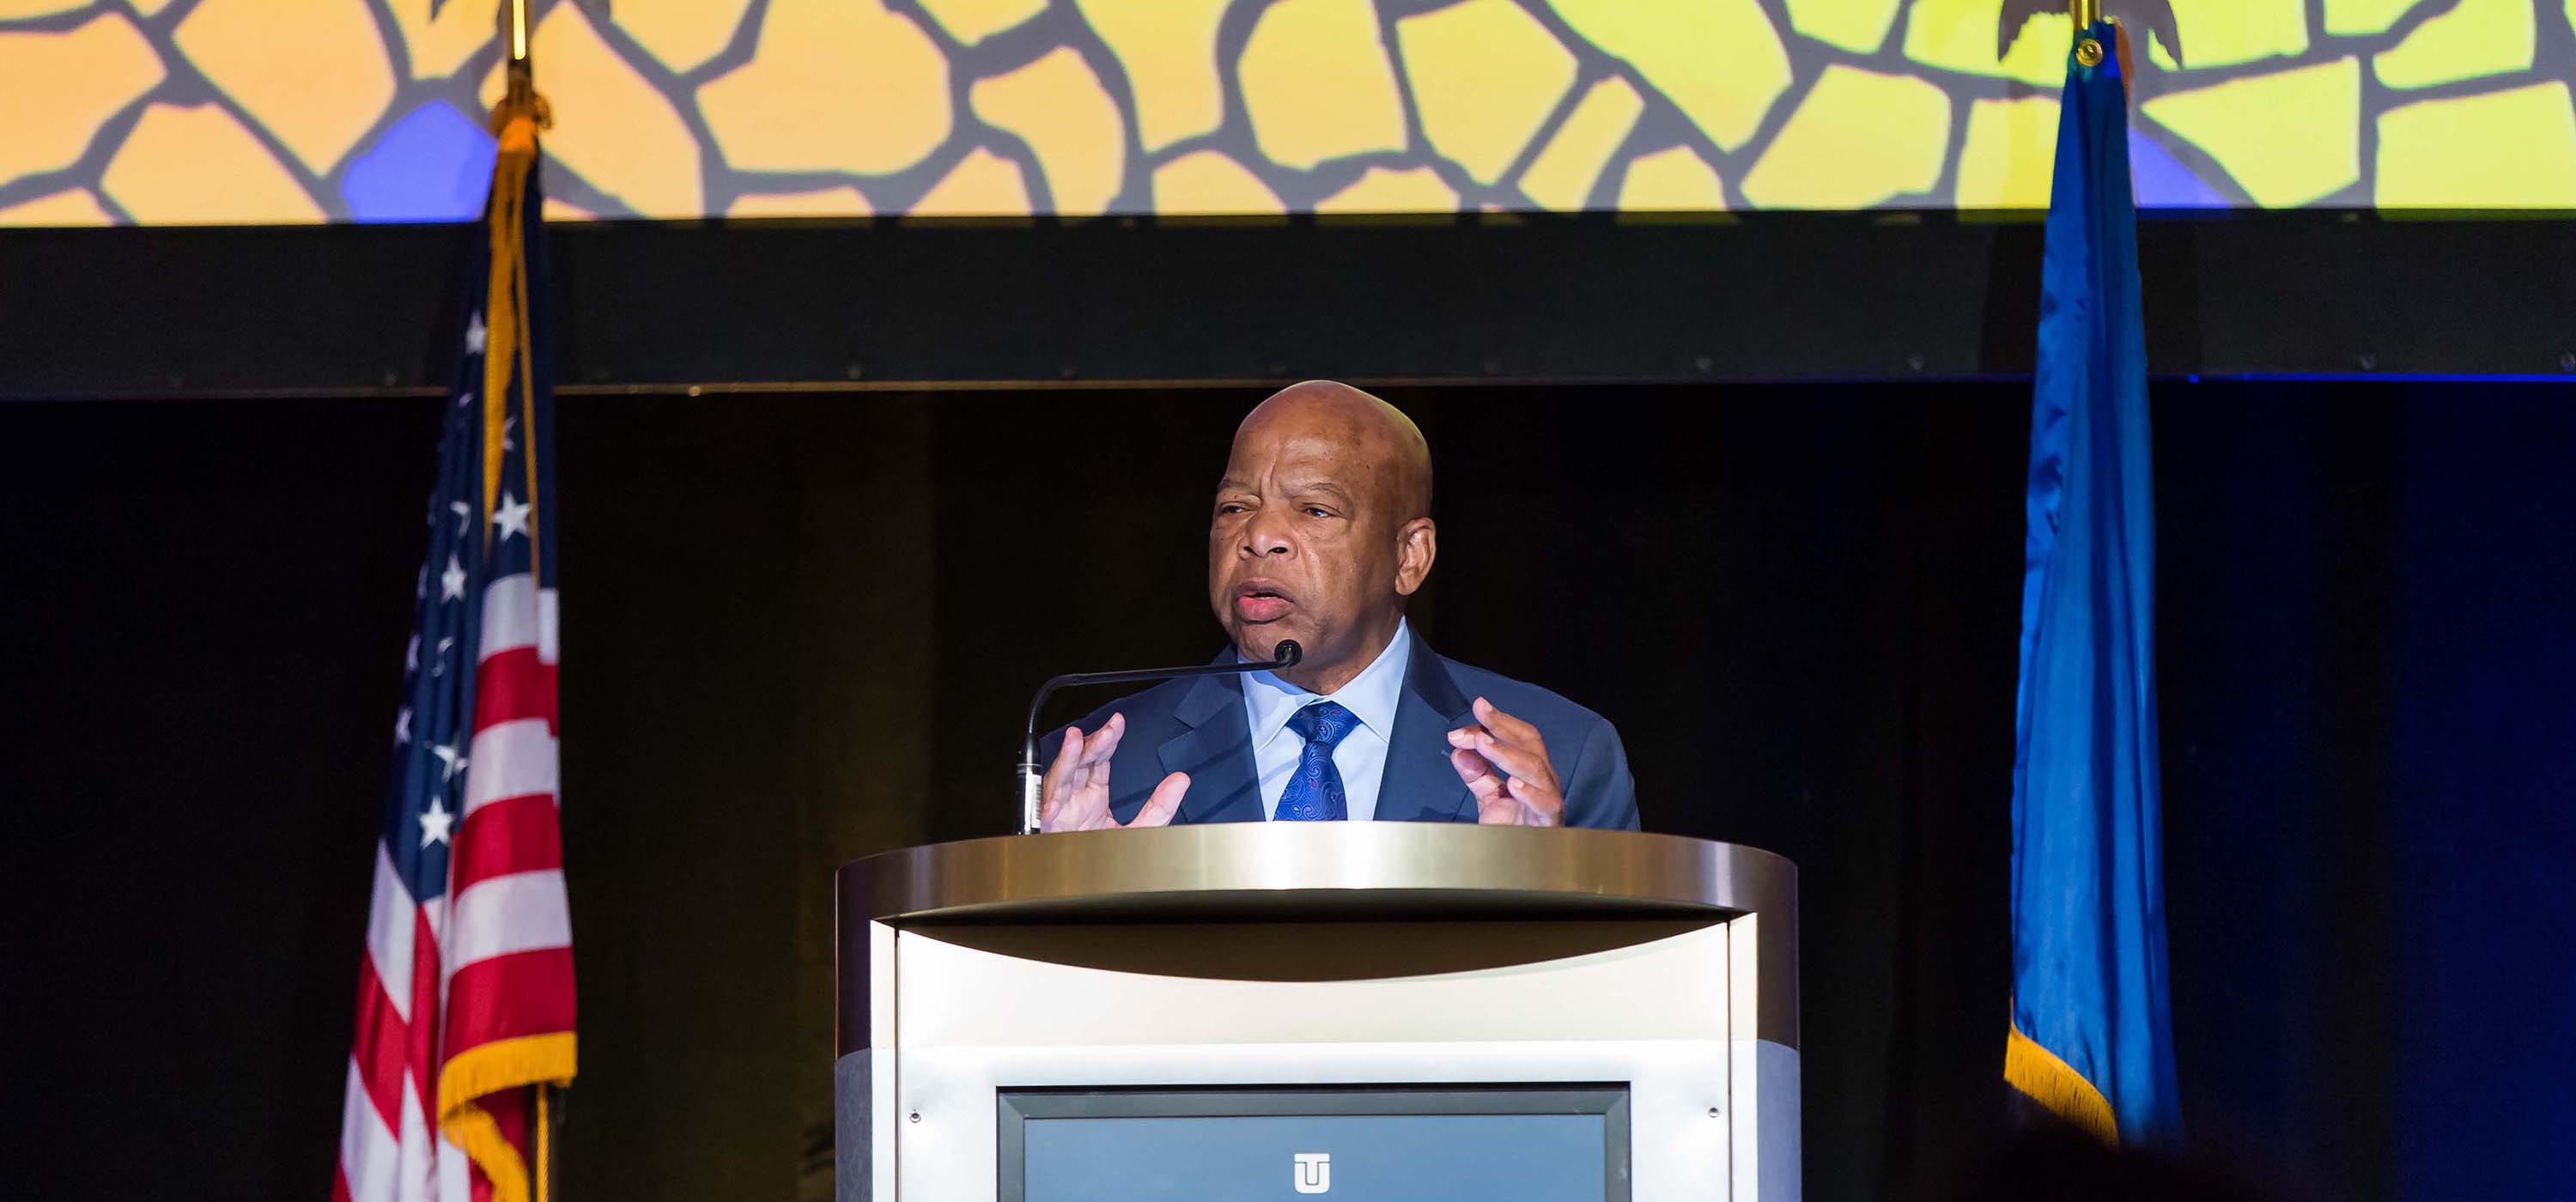
[[[1404,664],[1396,736],[1388,739],[1386,777],[1378,782],[1381,821],[1476,821],[1476,795],[1450,767],[1448,734],[1476,721],[1471,703],[1484,698],[1538,726],[1538,736],[1548,741],[1548,762],[1566,795],[1566,826],[1638,829],[1628,749],[1607,718],[1538,685],[1440,659],[1419,636],[1409,638],[1414,651]],[[1231,651],[1216,661],[1229,659]],[[1110,757],[1110,813],[1118,821],[1136,818],[1144,798],[1172,772],[1190,775],[1175,824],[1262,821],[1242,677],[1167,680],[1092,710],[1077,726],[1097,731],[1110,713],[1126,713],[1128,721],[1118,754]],[[1038,762],[1054,762],[1061,744],[1064,728],[1056,728]]]

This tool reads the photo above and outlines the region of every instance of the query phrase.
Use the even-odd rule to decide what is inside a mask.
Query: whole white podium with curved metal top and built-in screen
[[[1401,821],[971,839],[842,867],[837,952],[840,1202],[1476,1174],[1798,1197],[1770,852]]]

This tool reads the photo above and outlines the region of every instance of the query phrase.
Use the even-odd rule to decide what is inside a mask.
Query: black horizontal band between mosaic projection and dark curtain
[[[582,221],[572,389],[2030,373],[2040,214]],[[0,399],[446,389],[459,227],[10,229]],[[2166,376],[2576,378],[2568,214],[2138,221]],[[440,337],[425,337],[443,329]]]

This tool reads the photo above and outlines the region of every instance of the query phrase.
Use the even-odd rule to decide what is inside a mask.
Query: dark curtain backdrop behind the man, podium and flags
[[[1806,1184],[2002,1133],[2027,386],[1394,389],[1414,610],[1801,865]],[[1015,818],[1048,672],[1190,661],[1252,391],[562,402],[574,1199],[829,1184],[835,865]],[[322,1197],[438,402],[0,407],[26,1197]],[[2156,391],[2200,1148],[2308,1197],[2576,1176],[2576,396]],[[1082,700],[1066,700],[1066,716]]]

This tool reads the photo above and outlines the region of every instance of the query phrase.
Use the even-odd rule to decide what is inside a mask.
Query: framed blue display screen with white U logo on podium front
[[[1005,1089],[1002,1202],[1628,1202],[1628,1086]]]

